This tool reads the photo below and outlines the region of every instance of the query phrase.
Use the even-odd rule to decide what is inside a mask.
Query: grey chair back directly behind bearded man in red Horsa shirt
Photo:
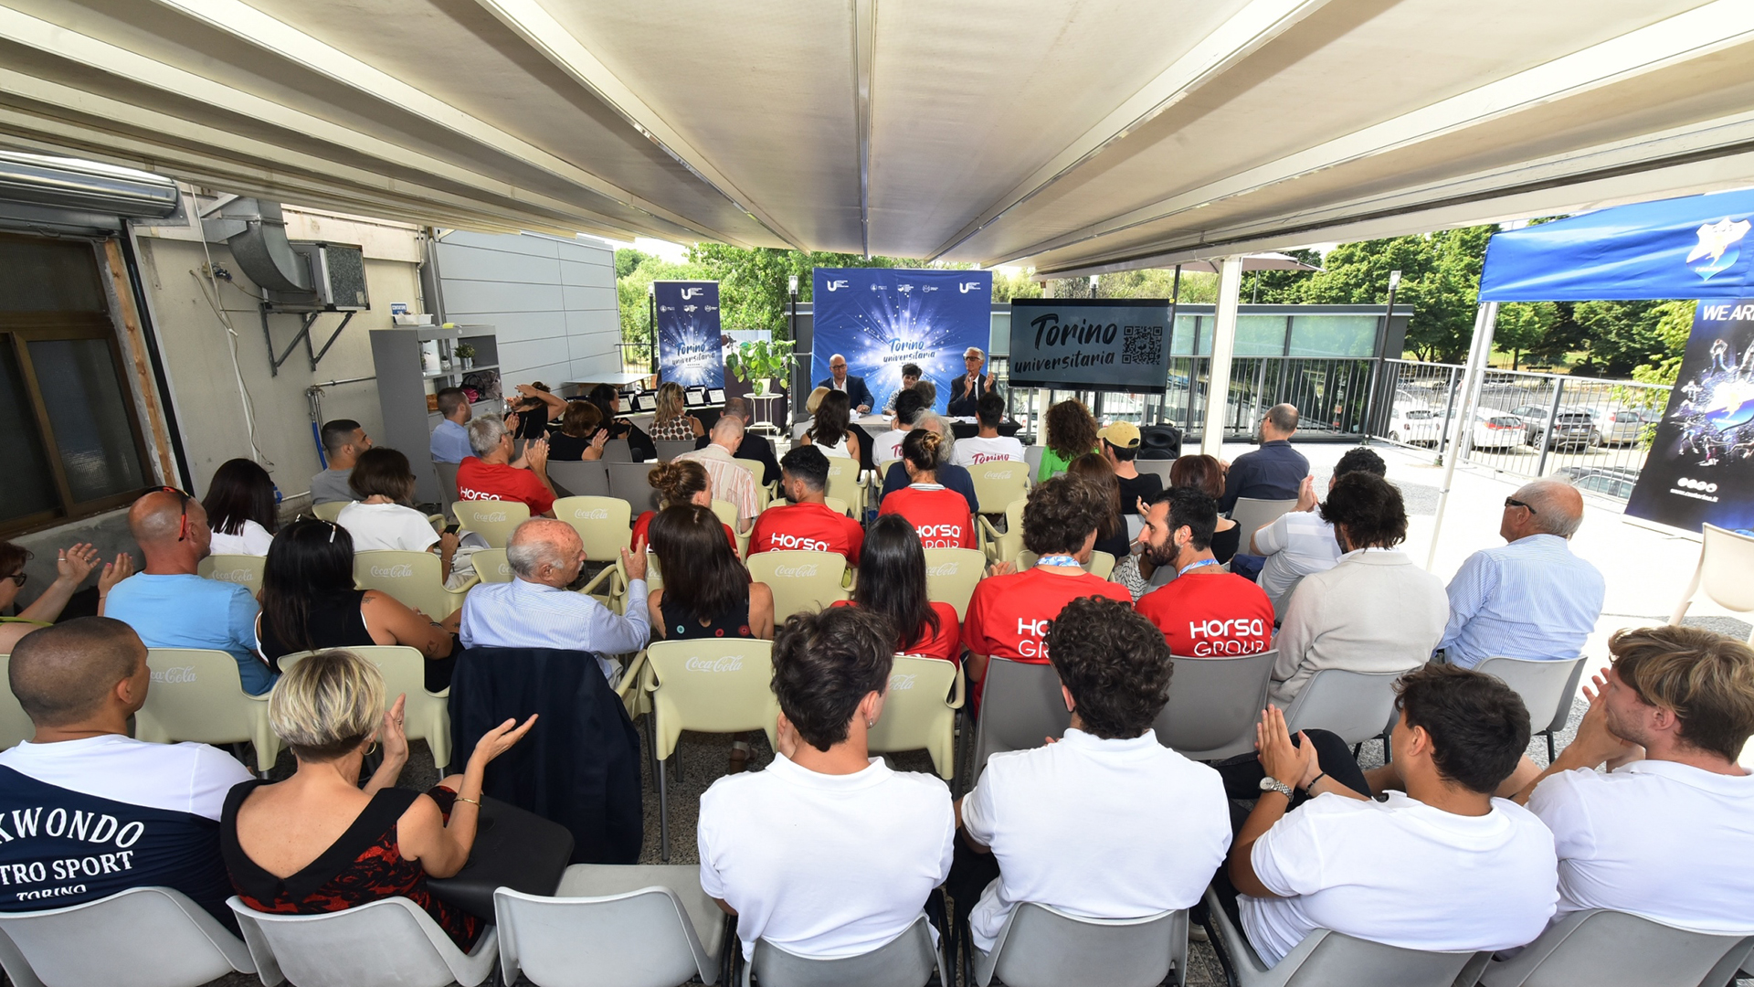
[[[1254,724],[1266,708],[1266,683],[1279,652],[1237,659],[1175,659],[1170,701],[1152,727],[1158,743],[1194,760],[1254,750]]]

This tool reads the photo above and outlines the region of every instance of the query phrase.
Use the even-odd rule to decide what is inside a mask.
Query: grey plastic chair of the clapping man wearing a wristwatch
[[[1207,920],[1217,933],[1238,987],[1472,987],[1491,959],[1484,952],[1422,952],[1386,947],[1330,929],[1316,929],[1275,966],[1230,922],[1217,894],[1207,889]]]

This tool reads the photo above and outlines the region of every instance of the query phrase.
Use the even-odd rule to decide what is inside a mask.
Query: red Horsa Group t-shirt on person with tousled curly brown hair
[[[1047,664],[1047,623],[1079,597],[1133,602],[1126,587],[1089,573],[1059,576],[1037,566],[1028,573],[989,576],[975,583],[975,595],[968,601],[963,645],[989,659]]]

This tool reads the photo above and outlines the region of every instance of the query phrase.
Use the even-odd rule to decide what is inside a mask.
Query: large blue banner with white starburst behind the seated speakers
[[[903,364],[919,364],[944,411],[951,381],[966,371],[963,351],[986,351],[993,334],[991,270],[817,267],[814,281],[810,383],[828,379],[828,360],[840,353],[847,376],[865,378],[872,409],[900,390]]]

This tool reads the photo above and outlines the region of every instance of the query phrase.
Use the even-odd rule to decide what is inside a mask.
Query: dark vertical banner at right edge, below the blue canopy
[[[1754,299],[1694,309],[1626,513],[1684,530],[1754,529]]]

